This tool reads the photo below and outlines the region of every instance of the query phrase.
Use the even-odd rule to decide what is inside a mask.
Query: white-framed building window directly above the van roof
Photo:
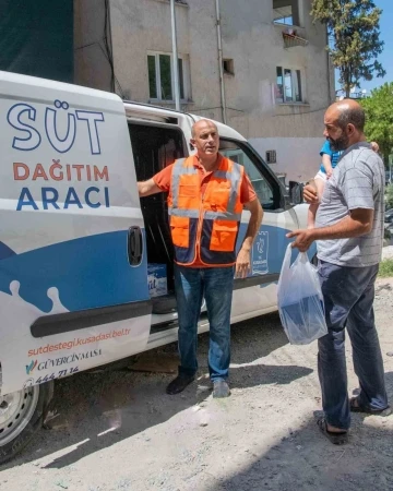
[[[148,97],[152,100],[175,99],[175,85],[172,73],[172,56],[164,52],[147,53],[148,69]],[[179,88],[180,99],[188,100],[189,83],[188,83],[188,59],[184,56],[179,57]]]

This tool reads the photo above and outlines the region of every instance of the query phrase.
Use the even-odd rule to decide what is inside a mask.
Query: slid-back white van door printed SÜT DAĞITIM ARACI
[[[4,395],[143,351],[152,307],[121,99],[5,72],[0,93]]]

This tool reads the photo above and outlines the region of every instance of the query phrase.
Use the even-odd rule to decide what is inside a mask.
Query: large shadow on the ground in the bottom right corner
[[[386,373],[386,386],[392,400],[393,372]],[[343,446],[319,432],[317,416],[263,455],[254,453],[252,465],[204,491],[393,490],[393,415],[353,415],[350,440]]]

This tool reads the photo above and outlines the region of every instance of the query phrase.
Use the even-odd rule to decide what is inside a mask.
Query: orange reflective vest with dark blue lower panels
[[[229,266],[236,263],[236,239],[242,204],[240,187],[245,169],[221,157],[201,194],[201,180],[193,158],[174,164],[168,213],[175,262],[192,266],[199,259],[206,266]]]

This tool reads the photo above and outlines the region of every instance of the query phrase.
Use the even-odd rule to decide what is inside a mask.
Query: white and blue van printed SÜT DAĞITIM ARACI
[[[199,117],[7,72],[0,115],[3,462],[39,428],[55,379],[177,339],[166,196],[140,200],[136,180],[192,152]],[[285,235],[305,226],[307,206],[290,205],[247,141],[216,124],[265,213],[251,275],[235,282],[238,322],[276,310]]]

